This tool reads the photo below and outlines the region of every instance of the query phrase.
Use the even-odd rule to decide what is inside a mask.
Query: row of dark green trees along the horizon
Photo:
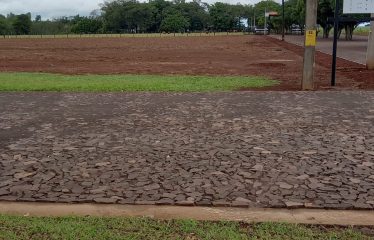
[[[334,9],[335,0],[319,0],[318,23],[324,29],[325,37],[328,37],[332,29],[329,19],[334,16]],[[279,13],[279,16],[269,19],[267,27],[280,32],[282,29],[281,10],[282,6],[274,0],[261,1],[254,5],[222,2],[208,4],[201,0],[192,2],[112,0],[105,1],[100,5],[100,9],[92,11],[90,16],[64,16],[42,20],[40,15],[32,19],[30,13],[0,15],[0,34],[243,31],[248,26],[264,26],[265,11]],[[286,30],[290,30],[293,26],[303,28],[304,21],[305,0],[286,0]]]

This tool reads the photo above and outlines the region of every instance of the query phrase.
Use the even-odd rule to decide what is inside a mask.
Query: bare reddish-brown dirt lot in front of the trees
[[[263,75],[281,80],[272,90],[297,90],[302,62],[302,47],[264,36],[0,40],[0,71]],[[329,85],[330,64],[317,54],[318,88]],[[337,82],[374,89],[374,71],[340,59]]]

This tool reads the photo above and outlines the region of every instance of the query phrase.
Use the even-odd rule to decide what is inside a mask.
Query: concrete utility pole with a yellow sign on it
[[[314,65],[317,38],[317,0],[306,1],[305,17],[305,50],[304,50],[304,71],[303,90],[314,89]]]

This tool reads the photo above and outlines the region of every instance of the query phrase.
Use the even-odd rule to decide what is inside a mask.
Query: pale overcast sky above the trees
[[[220,0],[227,3],[253,4],[260,0]],[[280,1],[280,0],[279,0]],[[278,1],[278,2],[279,2]],[[9,12],[15,14],[31,12],[33,18],[35,15],[41,15],[43,19],[73,16],[89,15],[94,9],[99,8],[99,4],[104,0],[0,0],[0,14],[6,15]],[[206,0],[203,2],[216,2],[215,0]]]

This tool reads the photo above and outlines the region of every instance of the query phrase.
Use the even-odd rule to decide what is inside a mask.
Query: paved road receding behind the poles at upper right
[[[273,36],[280,38],[280,36]],[[304,44],[304,36],[287,35],[286,41],[297,45]],[[353,36],[352,41],[339,40],[338,57],[366,65],[366,51],[368,46],[368,37]],[[317,50],[323,53],[332,54],[333,39],[318,38]]]

